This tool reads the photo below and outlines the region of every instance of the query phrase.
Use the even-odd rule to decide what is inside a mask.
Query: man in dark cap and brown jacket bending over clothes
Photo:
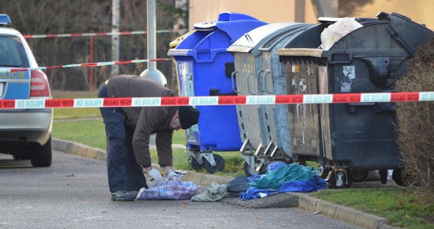
[[[99,88],[99,98],[172,97],[176,91],[137,75],[116,75]],[[149,138],[155,133],[158,163],[169,180],[180,179],[172,170],[172,135],[197,124],[199,111],[191,106],[99,108],[106,128],[107,176],[111,200],[134,200],[145,187],[143,168],[155,181],[160,171],[152,168]]]

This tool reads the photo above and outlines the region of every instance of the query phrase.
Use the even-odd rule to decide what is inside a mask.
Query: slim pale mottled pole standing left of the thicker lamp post
[[[112,8],[111,8],[111,32],[112,33],[118,33],[120,28],[120,0],[113,0],[112,1]],[[111,61],[119,61],[120,58],[120,40],[119,35],[112,35],[111,36]],[[111,67],[111,75],[118,75],[119,74],[119,66],[115,65]]]

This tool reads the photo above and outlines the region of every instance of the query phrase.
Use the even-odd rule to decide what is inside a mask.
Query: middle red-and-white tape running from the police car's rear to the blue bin
[[[75,67],[97,67],[97,66],[108,66],[108,65],[120,65],[120,64],[137,64],[153,61],[169,61],[170,58],[157,58],[157,59],[133,59],[129,61],[109,61],[109,62],[97,62],[97,63],[85,63],[85,64],[65,64],[59,66],[48,66],[48,67],[36,67],[36,68],[8,68],[0,70],[0,73],[15,73],[18,71],[34,71],[41,70],[45,71],[54,68],[75,68]]]

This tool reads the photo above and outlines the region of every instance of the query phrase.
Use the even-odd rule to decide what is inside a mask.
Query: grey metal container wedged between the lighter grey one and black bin
[[[270,39],[263,43],[258,50],[262,55],[263,91],[265,94],[281,95],[287,93],[286,68],[276,55],[281,47],[318,47],[321,45],[323,24],[309,25],[301,30],[293,30],[280,39]],[[269,155],[272,160],[279,160],[284,156],[286,161],[293,161],[290,150],[290,123],[288,105],[265,105],[262,109],[262,119],[266,121],[266,128],[261,128],[262,135],[269,140]]]

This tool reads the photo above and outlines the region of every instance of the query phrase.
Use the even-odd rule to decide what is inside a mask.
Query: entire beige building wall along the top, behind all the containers
[[[224,11],[245,13],[269,23],[317,23],[311,2],[332,4],[336,1],[338,17],[375,17],[380,11],[395,12],[434,29],[434,0],[190,0],[188,29],[197,22],[214,21],[218,13]]]

